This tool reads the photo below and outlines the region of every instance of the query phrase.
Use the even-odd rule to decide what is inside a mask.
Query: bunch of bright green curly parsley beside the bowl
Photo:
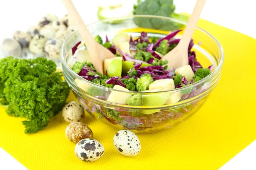
[[[55,71],[46,58],[0,60],[0,102],[8,105],[7,114],[27,119],[25,133],[44,129],[65,105],[70,88]]]

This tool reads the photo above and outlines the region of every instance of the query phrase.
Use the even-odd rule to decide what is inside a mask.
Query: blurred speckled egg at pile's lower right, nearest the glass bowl
[[[49,59],[58,60],[61,58],[61,45],[62,41],[55,38],[50,38],[45,42],[44,51]]]

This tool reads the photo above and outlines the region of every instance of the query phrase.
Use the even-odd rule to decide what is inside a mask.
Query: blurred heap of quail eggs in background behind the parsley
[[[47,14],[26,32],[16,31],[12,38],[3,40],[1,50],[4,57],[47,57],[58,61],[61,45],[76,30],[68,14],[62,19],[55,14]]]

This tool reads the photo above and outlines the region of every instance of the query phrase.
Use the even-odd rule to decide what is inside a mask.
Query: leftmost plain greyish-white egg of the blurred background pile
[[[21,57],[22,49],[15,39],[7,38],[3,40],[1,45],[1,50],[3,52],[4,57],[12,56],[12,57]]]

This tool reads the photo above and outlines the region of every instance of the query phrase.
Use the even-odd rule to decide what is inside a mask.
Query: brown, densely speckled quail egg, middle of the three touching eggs
[[[66,137],[77,143],[82,139],[93,138],[93,131],[82,122],[72,122],[66,128]]]

